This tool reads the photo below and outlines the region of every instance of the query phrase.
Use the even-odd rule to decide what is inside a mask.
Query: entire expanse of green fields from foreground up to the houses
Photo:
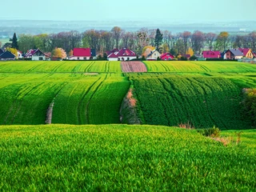
[[[256,66],[145,63],[126,74],[120,62],[0,62],[0,190],[254,191],[242,90]],[[149,125],[120,124],[121,106]],[[186,123],[221,138],[174,127]]]

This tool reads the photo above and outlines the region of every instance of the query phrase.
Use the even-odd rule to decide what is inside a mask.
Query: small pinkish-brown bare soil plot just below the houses
[[[121,62],[122,72],[147,72],[146,66],[143,62]]]

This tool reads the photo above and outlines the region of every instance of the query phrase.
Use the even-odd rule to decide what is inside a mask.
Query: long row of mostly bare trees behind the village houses
[[[1,45],[1,43],[0,43]],[[195,30],[193,33],[184,31],[172,34],[169,30],[148,30],[142,28],[130,32],[114,26],[112,30],[86,30],[79,33],[76,30],[58,34],[16,34],[10,43],[2,45],[4,48],[17,48],[23,53],[30,49],[40,49],[52,53],[56,48],[62,48],[66,53],[72,54],[75,47],[90,47],[97,54],[104,54],[106,50],[126,47],[142,55],[146,46],[155,47],[160,52],[171,54],[201,54],[202,50],[226,50],[229,48],[251,48],[256,51],[256,31],[245,35],[230,35],[223,31],[220,34],[203,33]]]

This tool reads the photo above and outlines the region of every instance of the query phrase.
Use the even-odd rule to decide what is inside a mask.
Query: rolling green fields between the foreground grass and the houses
[[[131,85],[143,124],[251,128],[242,89],[256,86],[256,66],[145,63],[149,73],[122,73],[120,62],[0,62],[0,124],[119,123]]]

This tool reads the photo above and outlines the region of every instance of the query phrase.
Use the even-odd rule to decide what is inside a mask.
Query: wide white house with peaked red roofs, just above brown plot
[[[131,59],[137,58],[134,51],[122,48],[121,50],[114,49],[106,51],[107,59],[109,61],[130,61]]]

